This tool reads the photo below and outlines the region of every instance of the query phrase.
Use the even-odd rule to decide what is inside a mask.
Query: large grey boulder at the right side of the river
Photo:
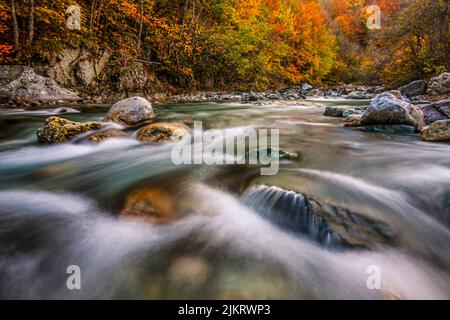
[[[372,100],[361,118],[361,124],[405,124],[420,129],[424,120],[418,107],[385,92]]]

